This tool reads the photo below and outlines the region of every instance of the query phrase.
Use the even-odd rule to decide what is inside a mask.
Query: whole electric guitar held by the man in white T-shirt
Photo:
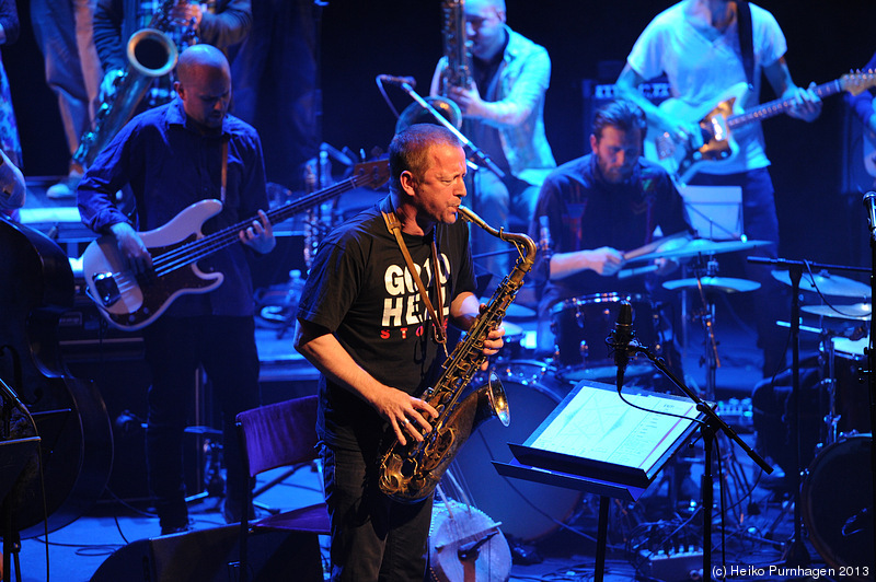
[[[825,98],[842,91],[856,95],[872,86],[876,86],[876,72],[867,71],[843,74],[812,91]],[[733,160],[739,151],[734,139],[736,129],[786,113],[794,105],[793,98],[780,98],[742,110],[740,104],[745,103],[747,93],[748,84],[737,83],[714,106],[692,107],[678,98],[660,103],[660,110],[675,118],[689,120],[691,125],[696,124],[700,135],[694,132],[687,140],[681,140],[667,132],[649,131],[644,143],[645,158],[664,166],[682,184],[696,172]]]

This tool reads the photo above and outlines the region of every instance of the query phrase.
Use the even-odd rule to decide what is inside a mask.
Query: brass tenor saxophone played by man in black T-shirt
[[[518,258],[465,338],[445,362],[438,382],[420,396],[438,410],[438,418],[429,420],[431,430],[422,442],[412,439],[402,445],[397,439],[388,439],[389,445],[380,455],[379,486],[383,493],[396,501],[413,503],[431,494],[457,452],[482,422],[493,417],[506,427],[510,422],[505,389],[494,374],[482,386],[471,391],[466,388],[486,360],[484,340],[491,329],[498,327],[517,296],[523,277],[535,260],[537,247],[525,234],[497,231],[468,208],[460,207],[459,211],[462,219],[514,244]]]

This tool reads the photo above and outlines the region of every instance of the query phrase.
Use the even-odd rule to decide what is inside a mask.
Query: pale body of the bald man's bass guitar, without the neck
[[[204,237],[205,221],[222,210],[219,200],[200,200],[170,222],[152,231],[139,233],[152,261]],[[183,294],[207,293],[222,283],[221,272],[205,273],[196,263],[165,275],[137,278],[125,268],[125,261],[113,236],[101,236],[89,244],[82,255],[82,268],[89,294],[101,313],[120,329],[135,330],[157,319],[173,301]],[[107,289],[115,289],[114,300]]]

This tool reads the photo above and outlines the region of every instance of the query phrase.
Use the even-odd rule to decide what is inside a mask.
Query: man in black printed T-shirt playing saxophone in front
[[[321,372],[334,581],[424,579],[433,497],[393,501],[377,469],[381,439],[405,444],[430,429],[438,412],[414,395],[439,375],[447,321],[469,329],[481,309],[459,218],[465,172],[446,128],[397,133],[389,196],[330,233],[302,292],[295,347]],[[489,331],[483,353],[496,353],[504,334]]]

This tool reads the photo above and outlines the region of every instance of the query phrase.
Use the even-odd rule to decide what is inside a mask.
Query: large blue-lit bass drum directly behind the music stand
[[[457,454],[452,472],[462,476],[471,503],[497,522],[503,533],[534,540],[557,529],[581,507],[583,494],[499,475],[493,461],[514,458],[507,443],[522,443],[570,391],[555,380],[554,369],[539,361],[517,360],[494,370],[508,397],[511,423],[484,422]]]

